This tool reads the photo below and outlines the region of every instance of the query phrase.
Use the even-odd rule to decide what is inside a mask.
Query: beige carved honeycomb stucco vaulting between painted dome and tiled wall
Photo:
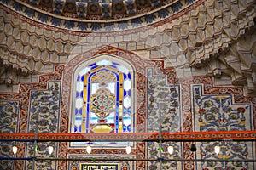
[[[255,88],[255,2],[208,0],[175,19],[137,29],[76,31],[38,23],[0,4],[0,82],[17,84],[27,75],[52,71],[77,54],[103,44],[144,59],[166,59],[177,69],[205,68],[205,75],[230,77],[230,84]],[[125,36],[124,36],[125,35]],[[177,59],[177,62],[171,62]],[[12,76],[9,76],[12,75]],[[193,75],[193,74],[192,74]]]

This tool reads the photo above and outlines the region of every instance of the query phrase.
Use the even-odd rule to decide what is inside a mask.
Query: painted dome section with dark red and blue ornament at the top
[[[73,31],[119,31],[177,18],[205,0],[0,0],[32,20]]]

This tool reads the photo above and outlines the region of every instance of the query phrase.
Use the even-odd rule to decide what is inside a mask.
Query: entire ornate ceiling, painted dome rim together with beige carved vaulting
[[[0,84],[112,45],[255,94],[255,18],[254,0],[0,0]]]

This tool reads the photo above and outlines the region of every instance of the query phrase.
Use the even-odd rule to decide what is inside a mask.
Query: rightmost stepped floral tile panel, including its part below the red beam
[[[203,94],[202,85],[192,85],[195,131],[239,131],[253,130],[251,104],[236,104],[230,94]],[[214,147],[220,146],[215,154]],[[252,142],[204,142],[197,144],[200,159],[253,159]],[[246,162],[201,162],[202,169],[249,169]],[[253,164],[251,165],[253,166]]]

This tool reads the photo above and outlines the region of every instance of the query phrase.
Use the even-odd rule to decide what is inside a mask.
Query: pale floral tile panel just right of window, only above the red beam
[[[180,131],[179,113],[179,86],[167,85],[166,76],[152,76],[153,71],[148,72],[148,131],[158,132],[159,114],[162,117],[162,130],[164,132]],[[154,124],[154,122],[156,122]]]

